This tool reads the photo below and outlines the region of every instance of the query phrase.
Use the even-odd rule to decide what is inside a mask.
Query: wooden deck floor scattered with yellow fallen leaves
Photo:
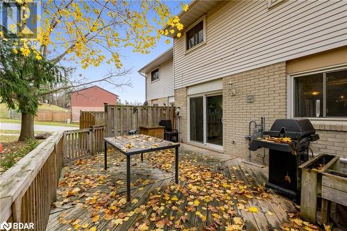
[[[176,186],[174,164],[167,157],[171,154],[148,153],[144,162],[132,157],[132,203],[124,202],[126,162],[121,153],[109,155],[107,172],[101,154],[71,163],[63,169],[46,230],[302,229],[289,218],[298,216],[291,200],[263,191],[266,167],[180,148]]]

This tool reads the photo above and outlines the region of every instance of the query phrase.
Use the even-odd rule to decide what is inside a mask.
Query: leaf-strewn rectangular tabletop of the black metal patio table
[[[180,146],[178,143],[169,142],[164,139],[158,139],[142,134],[121,137],[107,137],[104,138],[104,140],[111,146],[119,149],[119,151],[125,155],[134,155],[138,153],[146,153]]]

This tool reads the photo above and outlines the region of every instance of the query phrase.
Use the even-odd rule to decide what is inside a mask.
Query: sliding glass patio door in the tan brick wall
[[[189,137],[192,142],[223,146],[223,96],[189,98]]]

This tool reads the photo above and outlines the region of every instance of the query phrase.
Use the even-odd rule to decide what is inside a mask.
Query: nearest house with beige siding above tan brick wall
[[[347,161],[346,10],[347,1],[189,3],[181,36],[168,35],[182,141],[246,157],[249,121],[264,116],[269,130],[305,117],[321,136],[314,153]]]

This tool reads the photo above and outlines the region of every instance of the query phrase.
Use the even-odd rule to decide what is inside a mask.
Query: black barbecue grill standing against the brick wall
[[[298,166],[308,159],[310,142],[319,139],[308,119],[277,119],[264,136],[289,137],[291,143],[266,141],[264,137],[252,139],[248,149],[269,148],[269,181],[266,187],[277,189],[299,199],[300,175]]]

